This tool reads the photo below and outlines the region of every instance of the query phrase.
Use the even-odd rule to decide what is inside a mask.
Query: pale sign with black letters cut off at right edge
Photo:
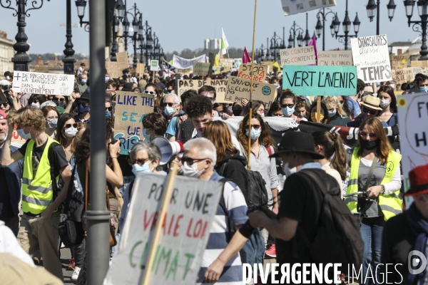
[[[428,163],[428,93],[404,94],[397,98],[404,192],[410,188],[409,171]],[[406,198],[406,207],[411,199]]]

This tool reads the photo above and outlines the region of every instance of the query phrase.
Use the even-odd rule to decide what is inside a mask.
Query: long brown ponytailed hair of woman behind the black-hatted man
[[[342,145],[342,139],[336,133],[327,130],[319,130],[312,133],[315,145],[322,146],[322,154],[330,159],[330,166],[337,170],[342,180],[346,179],[346,152]]]

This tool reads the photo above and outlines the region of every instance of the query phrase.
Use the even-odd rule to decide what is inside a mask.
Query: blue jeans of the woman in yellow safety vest
[[[364,241],[364,257],[362,257],[362,278],[360,284],[378,284],[384,282],[381,272],[381,266],[376,270],[377,264],[380,264],[380,252],[382,249],[382,232],[384,229],[384,217],[363,218],[361,224],[361,236]],[[368,272],[369,266],[371,271]],[[367,275],[367,279],[365,276]],[[373,277],[373,278],[370,278]]]

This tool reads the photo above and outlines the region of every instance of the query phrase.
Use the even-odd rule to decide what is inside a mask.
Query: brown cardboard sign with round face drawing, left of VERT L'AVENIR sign
[[[230,76],[226,88],[225,101],[241,103],[243,99],[250,100],[251,81]],[[253,100],[260,100],[269,109],[275,99],[276,86],[273,84],[253,82]]]

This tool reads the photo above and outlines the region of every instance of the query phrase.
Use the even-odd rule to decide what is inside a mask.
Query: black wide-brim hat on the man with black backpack
[[[312,135],[299,131],[290,131],[285,133],[277,151],[275,151],[273,155],[270,155],[270,157],[278,157],[280,153],[285,152],[304,152],[312,155],[314,160],[321,160],[322,158],[325,158],[323,155],[320,155],[315,151],[315,142]]]

